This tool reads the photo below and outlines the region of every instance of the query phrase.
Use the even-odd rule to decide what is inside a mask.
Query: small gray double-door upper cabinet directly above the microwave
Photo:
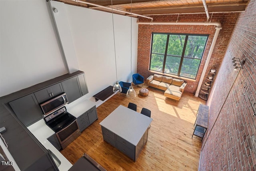
[[[36,91],[34,94],[38,103],[42,103],[43,101],[46,101],[47,99],[50,99],[51,97],[54,97],[55,95],[58,95],[62,92],[64,92],[62,84],[57,83],[39,91]]]

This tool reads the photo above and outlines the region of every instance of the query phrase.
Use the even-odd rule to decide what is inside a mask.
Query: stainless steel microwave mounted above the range
[[[68,103],[68,98],[66,93],[61,93],[51,99],[40,103],[40,107],[44,113],[44,115],[48,115],[49,113],[55,111],[59,107],[64,106]]]

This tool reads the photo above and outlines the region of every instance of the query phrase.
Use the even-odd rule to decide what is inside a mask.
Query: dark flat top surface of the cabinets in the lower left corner
[[[0,104],[0,127],[6,128],[6,132],[2,135],[8,143],[9,152],[21,170],[26,169],[38,159],[38,156],[47,152],[43,150],[42,145],[30,131],[3,104]]]

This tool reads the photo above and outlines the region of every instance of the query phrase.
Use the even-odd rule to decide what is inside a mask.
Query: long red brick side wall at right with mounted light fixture
[[[232,58],[245,60],[234,71]],[[256,1],[238,16],[208,99],[200,170],[256,170]]]

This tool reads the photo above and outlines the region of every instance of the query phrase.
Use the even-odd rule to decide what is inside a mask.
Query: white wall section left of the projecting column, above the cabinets
[[[45,0],[0,0],[0,96],[66,74]]]

